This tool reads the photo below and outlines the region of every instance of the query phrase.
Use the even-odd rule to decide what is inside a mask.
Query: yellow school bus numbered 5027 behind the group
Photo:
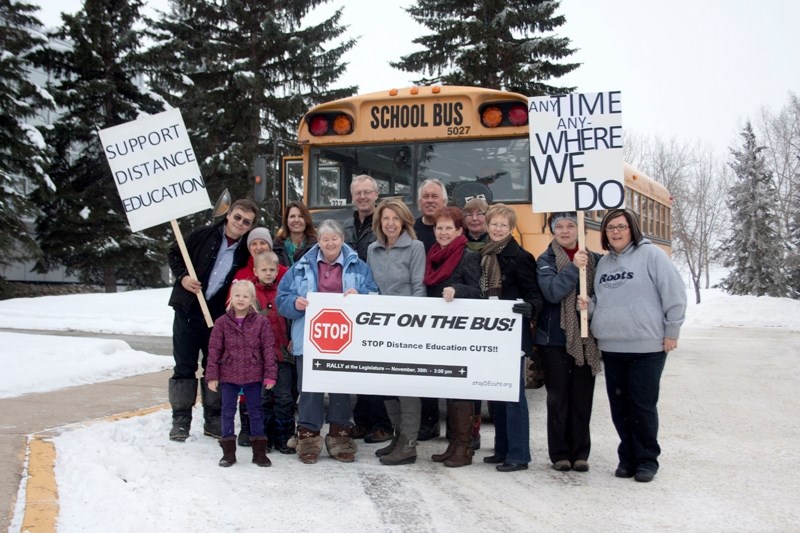
[[[410,87],[313,107],[298,130],[302,157],[283,163],[283,205],[303,200],[315,220],[352,216],[350,181],[368,174],[380,197],[402,197],[418,213],[426,179],[445,184],[451,203],[484,194],[517,214],[517,238],[538,256],[552,236],[547,214],[531,210],[527,97],[479,87]],[[626,205],[645,234],[671,251],[669,192],[625,165]],[[489,198],[490,197],[490,198]],[[600,250],[602,211],[586,213],[587,245]]]

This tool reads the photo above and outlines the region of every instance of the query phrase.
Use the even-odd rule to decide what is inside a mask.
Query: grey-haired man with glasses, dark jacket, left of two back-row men
[[[372,215],[378,199],[378,184],[371,176],[361,174],[350,183],[350,196],[355,210],[353,216],[342,225],[344,241],[356,251],[358,258],[366,263],[367,249],[375,242],[372,231]],[[392,423],[386,414],[383,396],[372,394],[356,395],[353,408],[355,425],[351,437],[364,438],[365,442],[384,442],[392,438]]]

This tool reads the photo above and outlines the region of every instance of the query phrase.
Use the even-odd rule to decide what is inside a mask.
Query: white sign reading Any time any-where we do
[[[619,91],[528,99],[533,211],[625,205]]]

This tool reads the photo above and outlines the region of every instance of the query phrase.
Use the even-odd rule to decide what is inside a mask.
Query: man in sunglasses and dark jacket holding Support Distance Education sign
[[[175,370],[169,380],[169,402],[172,405],[170,440],[183,442],[189,437],[192,407],[197,399],[197,358],[202,354],[205,372],[208,361],[208,339],[211,328],[206,325],[197,294],[202,291],[211,319],[225,313],[225,300],[234,274],[247,264],[250,252],[245,243],[256,222],[258,206],[251,200],[237,200],[227,217],[211,226],[195,229],[186,238],[186,249],[197,279],[189,275],[183,255],[175,243],[169,250],[169,268],[175,285],[169,305],[175,309],[172,325],[172,353]],[[221,399],[201,380],[203,401],[203,433],[219,437]]]

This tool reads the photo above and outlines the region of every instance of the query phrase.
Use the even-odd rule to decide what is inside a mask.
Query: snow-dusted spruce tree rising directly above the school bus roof
[[[391,65],[427,75],[429,85],[477,85],[527,96],[568,93],[548,82],[578,67],[563,63],[574,50],[554,30],[565,18],[547,0],[417,0],[406,11],[433,33],[417,37],[423,50]]]

